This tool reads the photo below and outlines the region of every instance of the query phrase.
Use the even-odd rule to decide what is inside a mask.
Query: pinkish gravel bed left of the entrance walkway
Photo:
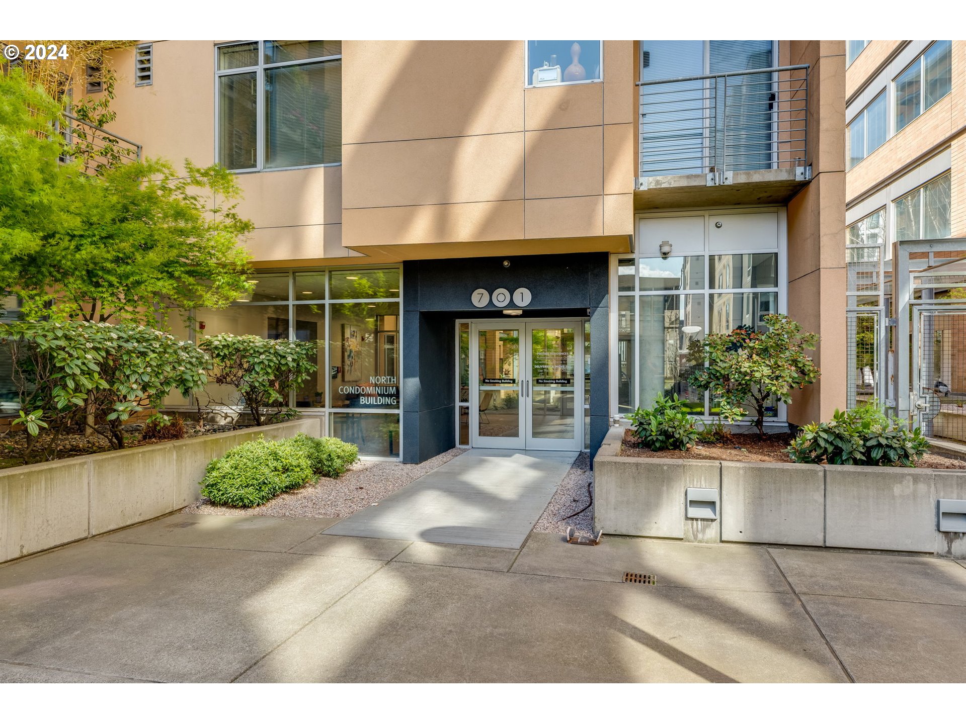
[[[464,448],[453,448],[418,465],[386,460],[359,460],[338,479],[320,478],[308,485],[283,492],[257,508],[229,508],[212,505],[202,498],[187,506],[183,513],[207,515],[274,515],[277,517],[348,517],[378,503],[386,495],[409,485],[444,462],[462,455]]]

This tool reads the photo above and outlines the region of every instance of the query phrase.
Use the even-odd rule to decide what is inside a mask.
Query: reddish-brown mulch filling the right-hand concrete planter
[[[624,431],[620,454],[628,458],[669,458],[689,460],[733,460],[737,462],[791,462],[785,448],[791,442],[790,434],[770,434],[761,439],[757,433],[733,434],[727,442],[717,444],[697,443],[688,450],[662,450],[659,453],[639,447],[634,431]],[[966,470],[966,460],[944,458],[926,453],[916,467],[934,467],[947,470]]]

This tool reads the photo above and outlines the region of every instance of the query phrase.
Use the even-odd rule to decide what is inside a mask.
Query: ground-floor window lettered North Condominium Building
[[[194,313],[196,340],[231,332],[315,343],[317,370],[288,404],[325,412],[329,434],[355,443],[363,455],[399,455],[400,269],[272,271],[252,281],[254,291],[226,309]],[[198,401],[244,404],[234,389],[214,384]]]

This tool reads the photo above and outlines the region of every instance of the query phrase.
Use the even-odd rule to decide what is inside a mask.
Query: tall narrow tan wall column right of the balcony
[[[845,406],[845,42],[788,46],[790,63],[811,66],[812,181],[788,203],[788,314],[821,337],[821,377],[788,407],[788,421],[804,425]]]

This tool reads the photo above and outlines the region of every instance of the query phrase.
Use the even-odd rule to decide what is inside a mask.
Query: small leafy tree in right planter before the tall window
[[[764,436],[765,404],[777,397],[791,403],[791,392],[811,384],[819,370],[806,354],[818,335],[806,332],[785,315],[767,315],[766,332],[740,326],[728,334],[709,334],[692,350],[693,364],[706,365],[691,376],[691,384],[710,390],[720,400],[721,416],[729,423],[748,416]]]

